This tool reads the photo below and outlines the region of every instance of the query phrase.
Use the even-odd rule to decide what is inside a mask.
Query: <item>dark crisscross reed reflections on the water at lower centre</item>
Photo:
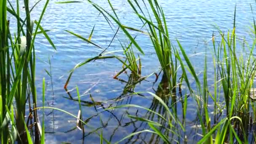
[[[145,129],[150,129],[151,127],[150,125],[148,125],[148,123],[152,123],[158,127],[159,132],[170,136],[169,139],[172,139],[170,142],[184,142],[185,139],[183,139],[181,136],[181,125],[176,123],[179,121],[180,116],[184,116],[182,115],[183,110],[177,110],[177,107],[181,107],[183,109],[183,103],[184,101],[187,101],[189,95],[186,95],[185,100],[182,99],[181,88],[179,88],[179,97],[171,96],[169,83],[168,80],[166,80],[166,77],[162,77],[160,82],[155,81],[154,83],[150,83],[147,80],[138,78],[137,75],[125,75],[128,76],[128,80],[116,78],[117,81],[124,84],[123,91],[120,93],[119,96],[108,99],[107,101],[95,101],[93,99],[93,95],[90,93],[89,96],[91,101],[80,100],[83,109],[86,109],[85,107],[94,107],[95,110],[95,114],[86,118],[83,117],[83,121],[90,125],[90,121],[96,119],[101,124],[99,124],[99,127],[96,126],[96,128],[92,128],[92,131],[87,131],[86,133],[83,133],[83,135],[79,136],[79,138],[83,139],[84,141],[86,137],[95,135],[95,131],[100,131],[102,129],[103,132],[105,130],[108,131],[105,139],[107,139],[109,142],[114,142],[116,141],[116,139],[120,138],[122,139],[122,137],[120,137],[120,131],[130,131],[131,133],[138,134],[134,134],[127,137],[126,139],[122,139],[122,143],[135,143],[143,141],[148,141],[149,143],[162,143],[163,139],[159,134],[141,132]],[[152,96],[146,96],[147,93],[136,93],[136,85],[139,85],[140,83],[148,83],[148,85],[152,85],[152,91],[154,91],[155,95],[161,98],[163,102],[160,102],[159,99],[156,99],[155,97],[152,98]],[[153,88],[155,83],[158,83],[156,90]],[[141,107],[137,107],[132,100],[133,97],[136,100],[144,99],[143,101],[147,103],[146,106],[143,104],[143,106],[141,106],[144,107],[143,109],[141,109]],[[67,97],[64,96],[64,98],[72,101],[79,101],[78,99],[73,98],[70,93],[68,93]],[[166,104],[169,109],[171,109],[171,113],[173,114],[176,122],[174,122],[173,120],[168,121],[170,115],[168,114],[168,110],[166,110],[166,107],[163,105],[163,103]],[[106,113],[108,117],[104,117]],[[112,121],[115,121],[116,123],[113,125]],[[197,122],[198,119],[193,120],[192,123]],[[183,121],[181,123],[182,125],[185,125],[185,117],[183,117]],[[84,124],[83,126],[86,127],[86,125]],[[75,131],[76,129],[77,127],[74,126],[65,133]],[[185,134],[186,133],[184,133],[184,135]]]

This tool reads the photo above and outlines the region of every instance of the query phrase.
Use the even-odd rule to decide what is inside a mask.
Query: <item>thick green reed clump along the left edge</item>
[[[10,8],[7,7],[7,2]],[[25,123],[24,116],[27,102],[30,111],[37,107],[34,48],[36,35],[43,33],[55,48],[51,39],[40,26],[48,2],[49,0],[45,2],[40,19],[37,22],[31,21],[30,12],[38,3],[35,3],[29,9],[29,0],[24,0],[26,18],[23,20],[19,14],[19,0],[16,0],[16,10],[9,1],[0,0],[0,136],[2,144],[14,143],[16,140],[19,143],[31,142],[31,139],[28,139],[29,133],[25,132],[28,123]],[[9,29],[10,21],[6,18],[7,12],[15,16],[17,20],[17,31],[14,38]],[[36,26],[35,30],[33,30],[34,25]],[[26,32],[24,29],[26,29]],[[38,32],[39,29],[41,32]],[[30,93],[32,94],[32,101],[30,101]],[[15,101],[13,101],[14,99]],[[15,104],[15,108],[13,108],[13,104]],[[39,120],[37,111],[33,112],[35,122],[34,142],[39,143],[41,136],[38,127]],[[10,124],[12,125],[11,131],[8,128]]]

